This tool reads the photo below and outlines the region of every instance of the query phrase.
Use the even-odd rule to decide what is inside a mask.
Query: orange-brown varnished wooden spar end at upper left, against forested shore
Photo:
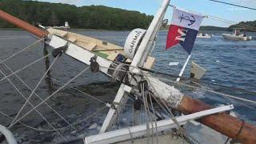
[[[0,18],[4,19],[6,22],[10,22],[15,26],[18,26],[23,30],[30,32],[31,34],[38,36],[39,38],[43,38],[48,35],[48,33],[45,30],[40,30],[38,29],[38,27],[32,26],[29,23],[24,22],[21,19],[18,19],[10,14],[7,14],[2,10],[0,10]]]

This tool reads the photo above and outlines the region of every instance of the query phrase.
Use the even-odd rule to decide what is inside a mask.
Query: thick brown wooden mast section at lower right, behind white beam
[[[202,101],[186,96],[182,98],[182,102],[178,106],[178,110],[187,114],[193,114],[211,108],[211,106]],[[230,114],[221,113],[210,115],[200,118],[199,122],[239,142],[256,143],[256,127],[247,122],[242,122],[238,118],[230,116]]]

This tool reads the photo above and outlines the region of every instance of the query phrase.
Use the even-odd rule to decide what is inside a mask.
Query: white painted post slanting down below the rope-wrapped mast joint
[[[129,86],[128,86],[129,87]],[[104,133],[116,120],[118,114],[122,111],[124,105],[127,101],[127,94],[126,90],[128,90],[127,86],[125,84],[121,84],[118,90],[118,94],[114,98],[114,106],[116,109],[110,108],[109,112],[106,115],[106,118],[102,124],[102,128],[100,130],[100,133]],[[129,89],[130,90],[130,89]]]

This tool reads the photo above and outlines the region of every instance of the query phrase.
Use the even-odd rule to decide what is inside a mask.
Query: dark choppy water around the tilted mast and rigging
[[[75,32],[114,42],[119,46],[124,45],[126,36],[129,34],[127,31]],[[202,78],[201,84],[207,83],[206,86],[210,86],[212,90],[218,90],[219,92],[236,95],[242,98],[250,98],[255,101],[255,94],[248,94],[245,91],[241,92],[240,90],[226,90],[222,86],[213,86],[209,84],[209,82],[255,91],[256,41],[234,42],[224,40],[220,35],[222,32],[219,31],[210,32],[210,34],[214,34],[214,38],[198,39],[195,42],[191,58],[192,61],[197,62],[207,70],[206,75]],[[251,35],[255,38],[255,34]],[[1,30],[0,58],[3,60],[35,41],[36,39],[31,37],[30,34],[25,31]],[[158,34],[158,41],[153,54],[157,58],[154,70],[170,74],[178,74],[188,55],[180,46],[175,46],[170,50],[165,50],[165,42],[166,31],[161,31]],[[51,49],[48,48],[47,51],[50,53]],[[10,58],[6,61],[6,65],[10,66],[10,69],[15,71],[42,57],[43,47],[41,43],[33,50],[28,50],[16,55],[14,58]],[[50,56],[50,62],[53,62],[53,60],[54,58]],[[179,62],[179,65],[168,66],[169,62]],[[41,98],[46,98],[51,92],[58,90],[63,83],[68,82],[70,78],[73,78],[85,68],[86,66],[81,62],[77,62],[73,58],[62,55],[50,70],[52,79],[48,78],[44,80],[38,87],[38,90],[36,90],[36,93]],[[8,68],[3,64],[0,65],[0,70],[3,74],[10,74],[10,70],[8,70]],[[22,78],[28,86],[34,89],[34,86],[37,85],[45,71],[46,61],[43,60],[28,67],[26,70],[18,72],[18,76]],[[184,76],[189,77],[189,71],[190,65],[187,66]],[[1,78],[4,78],[3,74],[1,75]],[[28,88],[20,82],[18,78],[11,76],[10,81],[14,83],[14,86],[16,86],[26,98],[30,95],[30,90],[28,90]],[[25,99],[22,98],[21,94],[19,94],[18,91],[14,89],[14,86],[12,86],[7,80],[1,81],[0,85],[0,110],[3,113],[8,114],[10,117],[14,117],[25,102]],[[114,100],[118,86],[119,84],[117,82],[111,82],[110,78],[107,78],[104,74],[93,74],[88,70],[86,73],[74,80],[74,82],[71,82],[69,86],[66,86],[65,89],[50,98],[47,103],[49,103],[54,110],[58,111],[58,113],[66,118],[70,123],[75,124],[74,129],[68,127],[66,122],[59,118],[58,115],[50,110],[46,105],[40,106],[38,111],[41,112],[55,128],[62,128],[60,133],[64,135],[66,139],[72,140],[80,138],[80,141],[77,142],[82,142],[81,139],[85,135],[98,133],[98,128],[102,125],[107,109],[104,109],[97,114],[94,114],[94,112],[100,110],[102,106],[104,106],[102,102],[112,102]],[[182,90],[183,93],[190,94],[194,98],[199,98],[214,106],[234,103],[235,112],[238,114],[239,118],[256,124],[256,111],[251,109],[256,109],[255,105],[246,103],[246,105],[251,107],[249,108],[242,105],[241,102],[223,98],[222,96],[211,94],[204,90],[190,89],[178,85],[176,86],[179,90]],[[74,90],[72,87],[89,93],[94,97],[90,98],[85,94]],[[102,102],[95,100],[95,98]],[[31,100],[31,103],[35,106],[39,102],[39,99],[35,96]],[[30,109],[31,106],[26,106],[22,114],[25,114],[25,112]],[[130,123],[130,120],[128,119],[130,117],[130,111],[124,110],[124,113],[125,114],[123,118],[121,118],[120,123]],[[83,121],[81,122],[81,120]],[[9,118],[0,114],[0,123],[2,125],[9,126],[10,122],[11,120]],[[38,129],[51,129],[51,127],[48,126],[48,124],[43,121],[36,112],[31,113],[29,116],[24,118],[22,122],[28,126],[33,126]],[[90,127],[94,123],[97,123],[97,126]],[[18,142],[62,142],[62,138],[57,133],[51,131],[31,130],[21,124],[15,125],[11,130],[14,132],[15,137],[18,138]]]

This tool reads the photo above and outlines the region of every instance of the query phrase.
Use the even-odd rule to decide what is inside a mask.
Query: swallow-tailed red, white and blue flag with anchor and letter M
[[[179,43],[188,54],[191,54],[203,17],[199,14],[192,14],[174,8],[166,40],[166,50]]]

